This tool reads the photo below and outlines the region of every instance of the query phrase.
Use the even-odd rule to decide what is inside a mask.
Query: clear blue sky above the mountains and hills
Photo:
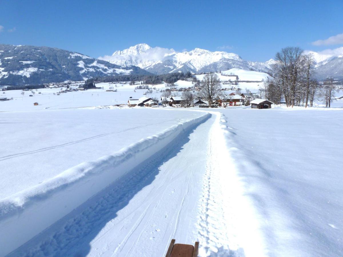
[[[342,0],[0,0],[0,6],[1,44],[57,47],[95,58],[139,43],[223,50],[251,61],[267,61],[286,46],[343,46],[343,40],[312,44],[343,33]]]

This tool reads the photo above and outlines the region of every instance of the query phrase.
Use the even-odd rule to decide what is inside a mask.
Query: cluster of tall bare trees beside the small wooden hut
[[[284,99],[286,106],[312,106],[314,99],[321,98],[330,107],[334,90],[338,90],[332,78],[324,83],[315,79],[314,57],[304,54],[299,47],[286,47],[276,53],[272,67],[272,79],[267,79],[259,88],[260,98],[274,103]]]

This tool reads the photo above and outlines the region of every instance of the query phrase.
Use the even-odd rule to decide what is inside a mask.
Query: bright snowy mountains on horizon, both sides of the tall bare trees
[[[312,53],[315,59],[316,76],[318,79],[334,77],[343,79],[343,47]],[[138,44],[122,51],[115,51],[111,56],[99,57],[117,65],[135,65],[155,74],[168,72],[209,72],[225,71],[232,68],[260,72],[271,71],[275,60],[267,62],[251,62],[243,60],[235,53],[224,51],[211,52],[200,48],[191,51],[177,52],[174,49],[151,47]]]

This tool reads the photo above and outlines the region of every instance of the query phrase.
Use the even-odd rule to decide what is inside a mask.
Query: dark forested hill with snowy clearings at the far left
[[[151,73],[58,48],[0,44],[0,85],[37,85],[125,74]]]

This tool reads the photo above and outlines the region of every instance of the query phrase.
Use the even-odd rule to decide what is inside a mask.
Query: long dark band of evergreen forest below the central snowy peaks
[[[87,79],[85,86],[90,85],[94,82],[121,82],[121,81],[144,81],[144,84],[157,85],[161,84],[162,81],[166,83],[175,83],[178,80],[185,80],[186,78],[192,77],[190,72],[176,72],[176,73],[167,73],[159,75],[120,75],[120,76],[106,76],[106,77],[95,77]]]

